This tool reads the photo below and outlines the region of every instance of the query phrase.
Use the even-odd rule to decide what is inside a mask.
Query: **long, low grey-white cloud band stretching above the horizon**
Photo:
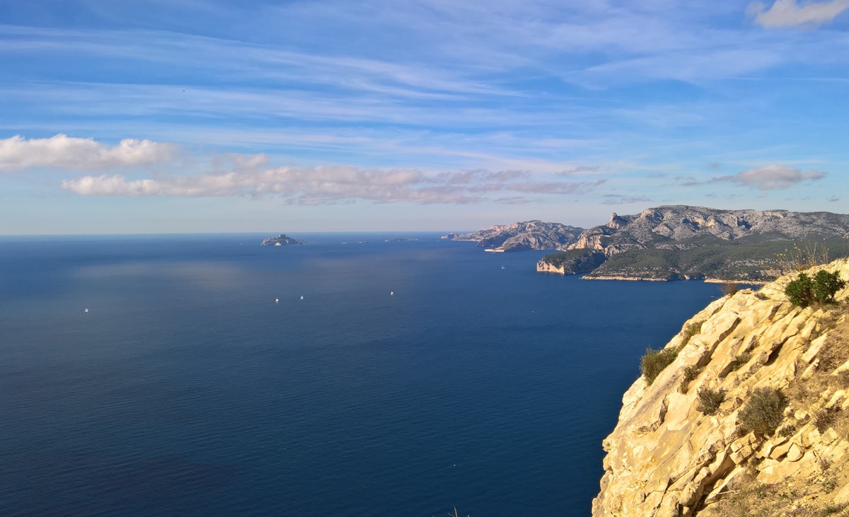
[[[417,169],[362,169],[353,166],[272,167],[210,172],[194,176],[128,179],[103,174],[65,180],[61,188],[85,196],[118,197],[279,197],[297,205],[329,205],[351,201],[465,205],[491,199],[487,194],[589,193],[604,183],[533,183],[522,171],[457,171],[426,175]],[[509,203],[526,199],[509,197]]]

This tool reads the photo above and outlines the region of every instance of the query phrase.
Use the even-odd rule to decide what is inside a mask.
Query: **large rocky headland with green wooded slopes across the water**
[[[596,279],[762,283],[778,276],[778,256],[792,253],[800,241],[820,252],[829,249],[835,258],[849,256],[847,236],[849,215],[659,206],[631,216],[614,213],[607,224],[580,233],[564,252],[544,256],[537,271]],[[588,251],[596,253],[589,269]]]

